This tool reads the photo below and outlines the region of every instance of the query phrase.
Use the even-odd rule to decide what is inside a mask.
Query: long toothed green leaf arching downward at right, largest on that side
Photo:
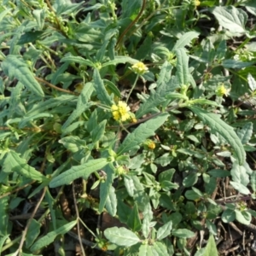
[[[190,108],[206,125],[211,127],[213,133],[218,132],[224,139],[230,143],[236,152],[236,157],[242,165],[246,160],[246,153],[241,144],[241,140],[237,137],[234,129],[227,125],[222,119],[215,113],[208,113],[202,108],[195,106],[189,106]]]

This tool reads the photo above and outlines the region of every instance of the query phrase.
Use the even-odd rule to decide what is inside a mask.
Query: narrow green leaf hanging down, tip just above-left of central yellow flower
[[[102,104],[111,106],[113,103],[97,69],[95,69],[93,72],[93,84],[96,90],[96,95]]]

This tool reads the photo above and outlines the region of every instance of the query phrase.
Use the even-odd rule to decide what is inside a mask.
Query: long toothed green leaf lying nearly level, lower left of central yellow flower
[[[54,177],[50,183],[50,188],[56,188],[64,184],[70,184],[73,180],[84,177],[87,179],[92,172],[96,172],[102,169],[104,166],[108,164],[108,160],[105,158],[99,158],[96,160],[89,160],[83,165],[73,166],[66,172],[62,172],[59,176]]]

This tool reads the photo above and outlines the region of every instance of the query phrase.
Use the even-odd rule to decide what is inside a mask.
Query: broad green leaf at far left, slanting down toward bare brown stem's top
[[[9,157],[9,165],[12,170],[18,172],[20,175],[24,177],[29,177],[32,180],[38,180],[41,183],[49,182],[49,178],[45,177],[41,172],[38,172],[32,166],[26,164],[26,160],[20,158],[19,154],[15,151],[10,150],[8,152]]]

